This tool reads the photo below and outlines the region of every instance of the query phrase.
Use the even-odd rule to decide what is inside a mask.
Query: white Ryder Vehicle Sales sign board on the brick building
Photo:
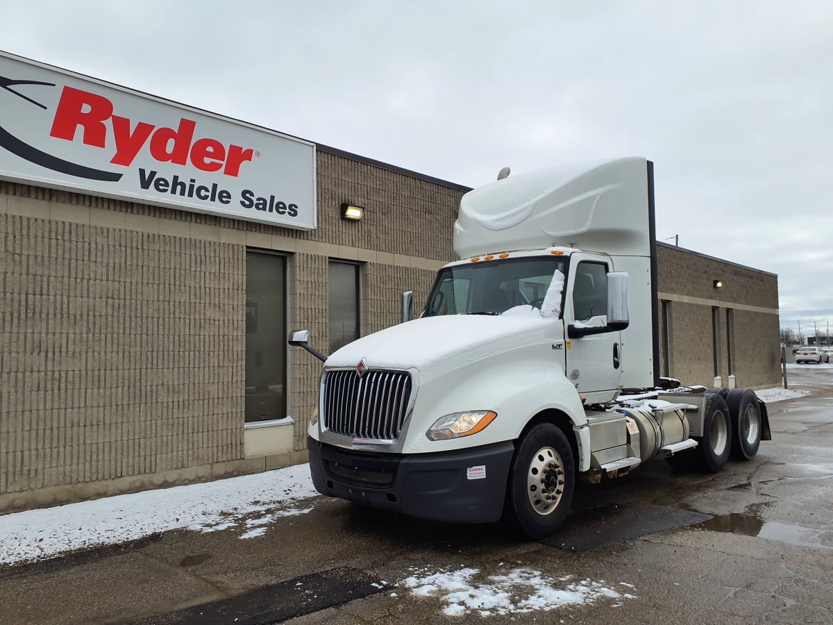
[[[0,52],[0,178],[316,228],[315,145]]]

